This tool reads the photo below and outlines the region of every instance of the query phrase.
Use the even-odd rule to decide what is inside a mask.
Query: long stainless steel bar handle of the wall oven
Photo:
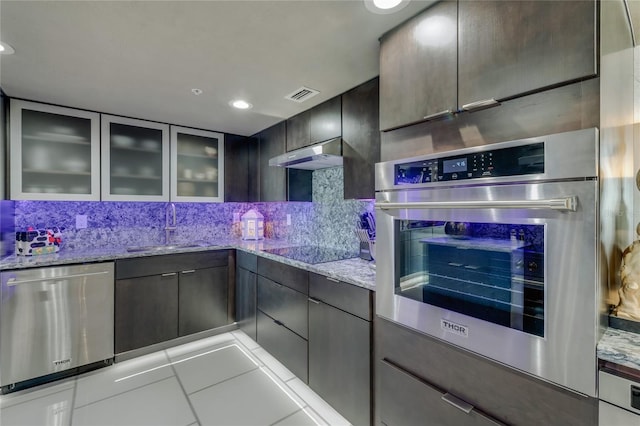
[[[398,209],[548,209],[575,212],[578,197],[552,198],[549,200],[513,200],[513,201],[416,201],[409,203],[376,203],[379,210]]]

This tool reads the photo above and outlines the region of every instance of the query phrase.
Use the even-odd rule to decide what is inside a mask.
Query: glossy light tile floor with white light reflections
[[[242,331],[0,396],[0,425],[348,425]]]

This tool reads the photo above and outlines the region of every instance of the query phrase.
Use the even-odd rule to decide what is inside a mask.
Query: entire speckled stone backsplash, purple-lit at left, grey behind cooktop
[[[343,200],[342,176],[342,167],[314,171],[311,203],[175,203],[177,230],[171,242],[239,237],[234,220],[255,208],[264,215],[267,238],[357,252],[359,244],[353,230],[358,215],[371,211],[373,202]],[[62,227],[63,248],[74,250],[155,245],[165,242],[166,207],[162,202],[16,201],[15,225],[17,230]],[[87,216],[87,228],[76,228],[78,215]]]

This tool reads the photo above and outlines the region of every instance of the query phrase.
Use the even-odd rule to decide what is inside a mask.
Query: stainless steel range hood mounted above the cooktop
[[[342,138],[278,155],[269,159],[269,165],[305,170],[342,166]]]

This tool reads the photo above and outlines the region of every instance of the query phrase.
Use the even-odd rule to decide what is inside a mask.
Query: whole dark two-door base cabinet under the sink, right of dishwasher
[[[229,324],[229,254],[116,261],[116,354]]]

